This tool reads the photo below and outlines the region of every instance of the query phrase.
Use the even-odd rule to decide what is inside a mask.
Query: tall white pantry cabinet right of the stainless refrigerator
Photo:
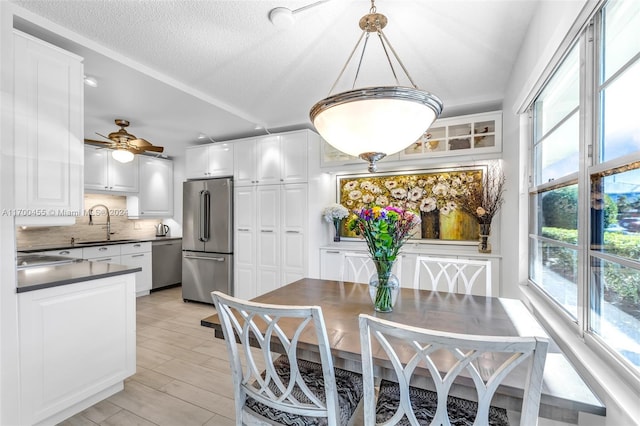
[[[251,299],[309,275],[309,232],[320,213],[309,214],[308,176],[319,142],[300,130],[234,143],[236,297]]]

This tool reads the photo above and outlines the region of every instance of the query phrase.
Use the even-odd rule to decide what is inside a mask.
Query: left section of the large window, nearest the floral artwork
[[[574,45],[533,104],[530,277],[573,318],[578,301],[579,49]]]

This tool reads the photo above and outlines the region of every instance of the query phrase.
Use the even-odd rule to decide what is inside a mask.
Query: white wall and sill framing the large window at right
[[[581,417],[580,424],[610,426],[637,424],[640,418],[638,391],[624,384],[606,362],[590,351],[575,327],[555,318],[553,310],[539,305],[526,287],[528,267],[528,147],[527,106],[541,82],[551,72],[568,43],[598,5],[594,0],[543,1],[529,26],[520,55],[512,70],[503,103],[503,158],[507,171],[506,202],[502,213],[503,286],[505,297],[523,297],[537,306],[536,313],[607,407],[606,419]],[[505,214],[507,213],[508,214]],[[510,266],[515,265],[515,266]],[[536,305],[538,304],[538,305]],[[538,310],[539,309],[539,310]],[[544,314],[540,314],[544,312]],[[634,402],[635,401],[635,402]]]

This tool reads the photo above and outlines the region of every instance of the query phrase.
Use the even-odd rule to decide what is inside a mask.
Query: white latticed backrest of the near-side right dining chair
[[[474,425],[486,425],[491,400],[498,386],[509,373],[525,362],[528,364],[520,424],[537,424],[547,339],[447,333],[411,327],[366,314],[360,314],[359,321],[365,424],[391,425],[406,416],[410,424],[417,425],[409,397],[409,384],[417,375],[416,372],[420,371],[421,376],[430,377],[438,396],[432,424],[450,424],[447,398],[454,381],[464,373],[471,377],[477,395],[478,409]],[[384,423],[376,423],[374,353],[376,358],[386,357],[400,391],[400,404]],[[483,369],[483,359],[489,358],[492,363],[498,364],[493,364],[491,369]],[[429,374],[423,373],[423,370]]]

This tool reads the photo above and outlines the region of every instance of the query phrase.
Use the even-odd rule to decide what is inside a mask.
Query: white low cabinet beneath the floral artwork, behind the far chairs
[[[483,256],[478,256],[476,254],[465,254],[465,255],[456,255],[456,254],[442,254],[442,253],[433,253],[433,252],[425,252],[425,251],[419,251],[420,249],[414,249],[414,248],[409,248],[408,250],[405,249],[402,251],[401,253],[401,259],[399,259],[399,262],[402,262],[401,265],[401,269],[400,269],[400,285],[402,287],[407,287],[407,288],[413,288],[413,278],[414,278],[414,273],[415,273],[415,267],[416,267],[416,257],[418,255],[422,255],[422,256],[434,256],[434,257],[450,257],[450,258],[465,258],[465,259],[474,259],[474,260],[489,260],[491,262],[491,294],[493,296],[498,296],[500,294],[500,278],[499,278],[499,274],[500,274],[500,258],[496,257],[496,256],[492,256],[492,257],[483,257]],[[424,250],[424,249],[422,249]],[[341,280],[342,277],[340,276],[340,271],[341,271],[341,267],[342,267],[342,259],[343,259],[343,255],[346,252],[350,252],[350,253],[367,253],[366,248],[365,247],[359,247],[359,248],[355,248],[355,249],[347,249],[347,248],[321,248],[320,249],[320,278],[322,279],[327,279],[327,280]],[[398,267],[395,267],[396,271],[398,270]],[[347,269],[347,272],[349,273],[349,270]],[[396,273],[396,275],[398,275],[398,273]],[[429,283],[427,283],[428,281],[428,276],[427,274],[422,274],[420,276],[420,288],[422,289],[427,289],[430,288],[429,287]],[[345,278],[345,281],[349,281],[350,277],[347,276]],[[444,283],[442,283],[442,286],[440,288],[438,288],[438,291],[448,291],[448,288],[446,287],[446,285]],[[464,284],[462,282],[458,283],[458,288],[457,288],[457,292],[458,293],[464,293]],[[472,289],[472,294],[478,295],[478,296],[484,296],[486,294],[486,286],[485,286],[485,280],[484,277],[480,277],[478,279],[478,282],[476,283],[476,285],[473,287]]]

